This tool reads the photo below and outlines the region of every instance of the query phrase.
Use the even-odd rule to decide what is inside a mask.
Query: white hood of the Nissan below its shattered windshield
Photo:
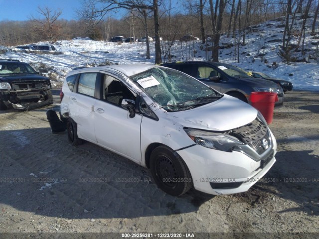
[[[250,123],[257,110],[237,98],[224,95],[210,104],[191,110],[170,112],[167,116],[184,127],[224,131]]]

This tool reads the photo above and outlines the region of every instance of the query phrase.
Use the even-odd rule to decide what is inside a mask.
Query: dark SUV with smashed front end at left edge
[[[52,103],[49,78],[27,63],[0,59],[0,110],[32,110]]]

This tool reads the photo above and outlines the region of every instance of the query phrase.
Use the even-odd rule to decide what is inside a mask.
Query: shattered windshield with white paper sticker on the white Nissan
[[[199,81],[175,70],[155,67],[132,80],[163,109],[184,111],[206,105],[222,97]]]

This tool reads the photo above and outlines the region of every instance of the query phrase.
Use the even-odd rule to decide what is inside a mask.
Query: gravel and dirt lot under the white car
[[[148,169],[92,143],[69,145],[51,133],[51,108],[0,112],[0,232],[319,233],[318,92],[287,93],[275,109],[277,162],[264,179],[215,197],[171,197]]]

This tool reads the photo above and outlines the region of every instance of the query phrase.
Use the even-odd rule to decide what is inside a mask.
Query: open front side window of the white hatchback
[[[121,106],[123,99],[134,100],[134,94],[118,79],[104,75],[103,79],[103,100]]]

